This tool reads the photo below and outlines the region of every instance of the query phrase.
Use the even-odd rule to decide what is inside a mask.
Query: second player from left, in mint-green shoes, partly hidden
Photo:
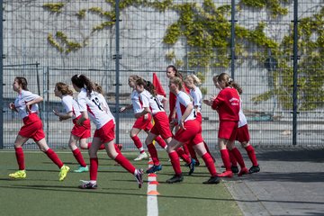
[[[71,149],[73,156],[76,157],[76,161],[79,164],[75,173],[83,173],[89,171],[86,166],[85,159],[76,143],[78,142],[80,148],[87,148],[86,139],[91,136],[91,124],[90,120],[85,120],[82,125],[76,124],[76,121],[81,118],[81,112],[79,111],[78,104],[73,98],[73,92],[69,89],[68,85],[62,82],[58,82],[54,88],[55,96],[59,97],[65,108],[65,112],[58,112],[53,110],[54,114],[58,116],[59,121],[64,121],[72,118],[74,127],[71,130],[70,139],[68,141],[68,147]]]

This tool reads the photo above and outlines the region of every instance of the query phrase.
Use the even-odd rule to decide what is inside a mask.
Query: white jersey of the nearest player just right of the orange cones
[[[178,94],[176,94],[175,112],[178,118],[178,123],[180,123],[184,111],[189,104],[193,104],[193,103],[190,100],[190,96],[188,94],[184,93],[183,91],[180,91]],[[188,117],[184,120],[184,122],[189,120],[194,120],[195,119],[194,112],[195,111],[193,109],[192,112],[188,115]]]

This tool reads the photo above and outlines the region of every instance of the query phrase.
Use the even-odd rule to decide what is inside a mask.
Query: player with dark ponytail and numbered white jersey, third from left
[[[90,117],[90,120],[94,122],[96,127],[92,145],[89,148],[90,181],[84,181],[83,184],[79,185],[79,188],[97,188],[96,180],[99,166],[97,151],[102,143],[105,146],[107,155],[130,172],[130,174],[134,175],[140,188],[143,184],[143,170],[136,169],[121,152],[116,151],[113,142],[115,137],[115,122],[103,94],[95,91],[94,83],[85,75],[72,76],[71,81],[76,92],[79,92],[77,95],[77,103],[81,112],[81,118],[76,121],[76,124],[83,125],[84,121]]]

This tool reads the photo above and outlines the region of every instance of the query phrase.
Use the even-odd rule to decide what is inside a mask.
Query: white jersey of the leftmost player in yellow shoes
[[[23,119],[28,116],[30,113],[38,112],[39,107],[37,103],[31,105],[31,112],[27,112],[26,103],[30,102],[36,98],[39,98],[40,95],[32,94],[30,91],[22,90],[20,94],[18,94],[17,98],[14,100],[14,106],[19,113],[19,117]]]

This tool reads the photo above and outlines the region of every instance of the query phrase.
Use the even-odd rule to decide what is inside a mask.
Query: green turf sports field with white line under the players
[[[70,166],[76,168],[76,159],[69,151],[57,151],[58,156]],[[83,151],[85,161],[87,152]],[[137,152],[123,152],[130,158]],[[99,152],[98,188],[81,190],[77,188],[79,180],[88,180],[89,174],[70,172],[64,182],[58,181],[58,167],[40,151],[26,151],[25,162],[27,178],[12,180],[9,173],[17,170],[14,151],[0,151],[0,215],[242,215],[237,203],[231,197],[225,185],[202,184],[209,178],[205,166],[198,166],[193,175],[184,175],[180,184],[166,184],[173,175],[166,152],[159,152],[163,165],[156,178],[158,184],[154,192],[148,195],[151,182],[144,175],[141,189],[133,175],[102,151]],[[135,166],[148,168],[148,160],[134,162]],[[182,166],[184,174],[188,168]],[[220,167],[217,167],[220,172]],[[149,180],[149,181],[148,181]]]

